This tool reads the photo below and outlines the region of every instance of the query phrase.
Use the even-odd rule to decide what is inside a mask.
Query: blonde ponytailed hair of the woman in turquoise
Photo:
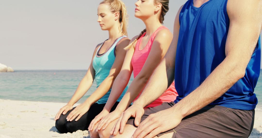
[[[127,22],[128,15],[127,9],[125,8],[125,4],[121,0],[104,0],[100,2],[100,4],[107,3],[110,7],[112,13],[119,11],[119,30],[122,31],[123,35],[127,36]]]

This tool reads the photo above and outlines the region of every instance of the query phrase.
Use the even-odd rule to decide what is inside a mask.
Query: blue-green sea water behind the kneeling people
[[[64,102],[67,103],[81,79],[85,70],[66,71],[16,71],[12,73],[0,73],[0,99]],[[262,70],[260,71],[262,74]],[[262,105],[262,75],[260,75],[255,88],[258,105]],[[133,80],[133,75],[129,84]],[[78,101],[82,103],[96,89],[94,81],[92,87]]]

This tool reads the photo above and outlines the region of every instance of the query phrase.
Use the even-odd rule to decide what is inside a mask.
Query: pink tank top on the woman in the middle
[[[142,49],[142,50],[140,50],[140,45],[141,45],[141,42],[142,42],[142,38],[145,36],[146,32],[138,39],[137,44],[135,45],[135,51],[134,51],[132,61],[131,61],[132,66],[133,66],[133,71],[134,71],[134,78],[142,70],[142,68],[143,68],[143,66],[146,62],[146,59],[147,59],[147,57],[150,53],[150,50],[151,50],[152,44],[154,42],[154,39],[157,35],[157,32],[159,32],[161,29],[168,29],[168,28],[166,28],[165,26],[160,26],[159,28],[157,28],[157,30],[149,38],[149,41],[146,44],[145,48]],[[140,94],[141,94],[141,92],[140,92]],[[139,95],[135,98],[135,100],[137,100]],[[176,100],[177,96],[178,96],[178,94],[177,94],[177,91],[175,89],[175,85],[174,85],[174,82],[173,82],[171,84],[171,86],[158,99],[156,99],[154,102],[150,103],[145,108],[156,107],[156,106],[161,105],[163,102],[174,101],[174,100]]]

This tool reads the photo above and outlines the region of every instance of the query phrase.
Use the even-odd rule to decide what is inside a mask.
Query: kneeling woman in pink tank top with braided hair
[[[165,56],[173,38],[172,33],[162,25],[164,16],[169,9],[168,4],[168,0],[138,0],[135,3],[135,17],[144,22],[146,29],[140,35],[135,36],[125,48],[127,54],[121,71],[113,83],[112,92],[105,108],[90,123],[91,137],[94,137],[94,134],[97,135],[95,131],[98,131],[99,136],[103,138],[118,132],[111,131],[112,128],[114,130],[113,126],[117,119],[139,97],[152,72]],[[109,113],[108,111],[128,84],[132,71],[134,72],[133,82],[116,109]],[[163,102],[173,101],[176,96],[177,92],[173,82],[158,99],[146,106],[144,110],[161,105]]]

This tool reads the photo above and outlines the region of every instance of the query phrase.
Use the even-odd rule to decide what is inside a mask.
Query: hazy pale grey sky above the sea
[[[129,14],[128,36],[145,25],[134,17],[134,3],[123,0]],[[164,25],[173,30],[179,7],[171,0]],[[14,70],[87,69],[98,43],[108,38],[97,23],[100,0],[0,0],[0,63]]]

